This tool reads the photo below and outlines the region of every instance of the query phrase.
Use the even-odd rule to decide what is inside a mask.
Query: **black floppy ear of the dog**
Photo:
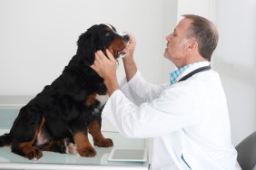
[[[92,65],[95,60],[94,34],[90,32],[82,33],[77,41],[76,55],[79,61],[84,61],[86,65]]]

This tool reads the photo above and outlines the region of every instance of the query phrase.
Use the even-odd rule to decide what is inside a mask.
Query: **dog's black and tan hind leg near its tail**
[[[23,118],[16,122],[14,139],[12,142],[12,152],[28,159],[39,159],[43,156],[42,151],[34,146],[36,138],[44,126],[44,117],[29,109]],[[28,120],[28,122],[24,121]]]

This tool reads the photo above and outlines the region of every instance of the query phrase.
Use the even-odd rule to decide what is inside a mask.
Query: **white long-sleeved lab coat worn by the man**
[[[195,63],[178,80],[206,65],[208,61]],[[150,84],[137,72],[113,92],[103,117],[125,137],[153,137],[153,170],[241,169],[215,71],[202,71],[172,86]]]

